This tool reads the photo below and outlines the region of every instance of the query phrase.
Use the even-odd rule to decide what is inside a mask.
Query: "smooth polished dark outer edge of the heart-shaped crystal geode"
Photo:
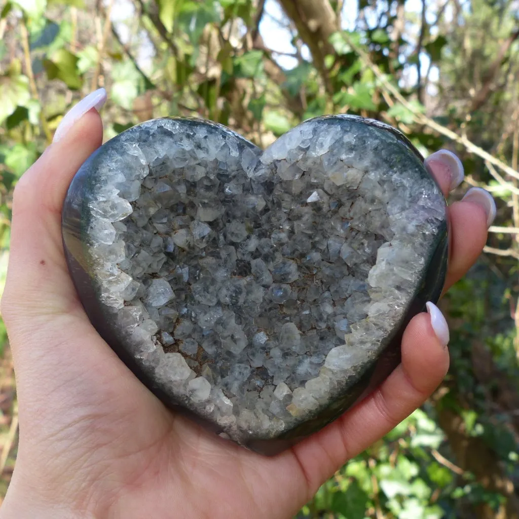
[[[325,119],[327,117],[333,116],[324,116],[320,119]],[[384,124],[379,124],[377,121],[372,119],[364,119],[362,117],[351,117],[351,119],[356,119],[368,126],[374,126],[391,132],[408,149],[411,149],[422,163],[424,162],[424,157],[422,157],[416,147],[398,130]],[[194,120],[199,121],[200,119]],[[216,125],[210,121],[207,122]],[[229,131],[221,125],[216,126],[220,126]],[[117,139],[117,137],[115,139]],[[108,307],[99,301],[95,280],[83,267],[83,265],[86,265],[83,238],[85,236],[85,229],[88,226],[88,222],[85,222],[85,220],[82,219],[82,215],[86,214],[86,208],[84,207],[84,194],[92,188],[88,179],[88,166],[98,153],[99,149],[87,159],[75,175],[67,192],[62,211],[63,247],[66,262],[69,266],[70,274],[80,301],[85,308],[90,322],[93,324],[100,336],[114,350],[121,361],[125,363],[133,374],[149,390],[151,390],[158,399],[174,412],[186,415],[208,431],[216,434],[221,433],[223,432],[222,429],[216,424],[200,417],[196,413],[185,408],[183,405],[180,405],[179,402],[171,397],[171,395],[166,394],[163,390],[158,388],[155,381],[142,370],[135,359],[125,349],[121,340],[117,337],[114,327],[106,319],[106,317],[110,315],[107,311]],[[435,180],[434,183],[438,185]],[[349,408],[358,404],[392,373],[401,360],[401,340],[407,324],[415,315],[425,311],[426,303],[428,301],[433,303],[438,302],[443,290],[448,258],[448,229],[445,221],[442,223],[440,232],[436,236],[435,241],[435,244],[431,247],[433,252],[431,253],[427,266],[424,269],[425,274],[422,277],[420,286],[416,291],[413,301],[408,305],[407,311],[402,318],[398,329],[396,329],[394,333],[385,340],[386,346],[384,347],[383,353],[381,353],[372,365],[365,370],[361,378],[346,392],[344,392],[340,398],[331,401],[330,405],[315,417],[280,434],[274,439],[265,440],[251,438],[244,445],[245,447],[267,456],[279,454],[307,436],[319,431],[324,426],[337,419]]]

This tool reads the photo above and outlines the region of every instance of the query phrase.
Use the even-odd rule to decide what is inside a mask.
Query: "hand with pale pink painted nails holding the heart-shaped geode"
[[[63,255],[66,190],[102,141],[94,101],[64,119],[59,140],[15,190],[2,312],[16,368],[20,444],[0,517],[291,517],[440,384],[448,368],[445,320],[434,305],[416,316],[404,333],[402,363],[384,384],[278,456],[249,452],[171,413],[94,330]],[[448,152],[431,155],[427,165],[445,194],[462,180],[461,164]],[[470,190],[448,214],[446,288],[481,253],[495,205],[483,190]]]

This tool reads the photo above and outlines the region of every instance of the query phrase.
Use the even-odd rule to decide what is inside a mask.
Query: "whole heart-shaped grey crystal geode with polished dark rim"
[[[405,325],[442,289],[446,206],[377,121],[319,117],[262,151],[163,118],[84,163],[63,239],[90,320],[143,383],[274,454],[397,365]]]

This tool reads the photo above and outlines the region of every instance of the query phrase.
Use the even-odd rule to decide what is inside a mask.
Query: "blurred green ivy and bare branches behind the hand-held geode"
[[[7,0],[0,14],[0,286],[12,188],[63,114],[108,91],[105,139],[199,115],[266,146],[298,122],[388,122],[456,152],[498,216],[443,299],[452,366],[430,401],[318,491],[299,517],[519,518],[517,0]],[[16,459],[0,325],[0,494]],[[59,366],[57,366],[59,369]]]

